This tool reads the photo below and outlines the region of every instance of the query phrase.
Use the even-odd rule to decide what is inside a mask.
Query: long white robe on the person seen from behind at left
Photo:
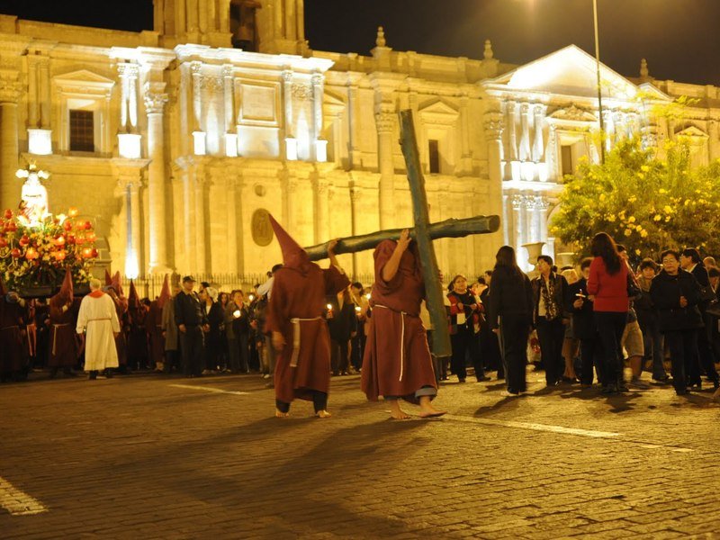
[[[118,366],[118,351],[113,332],[120,332],[115,302],[103,293],[98,298],[85,296],[77,314],[78,334],[85,335],[85,371],[101,371]]]

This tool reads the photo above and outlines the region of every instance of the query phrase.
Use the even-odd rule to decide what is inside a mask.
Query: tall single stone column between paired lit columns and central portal
[[[165,273],[167,266],[166,204],[165,204],[165,142],[163,110],[167,103],[165,83],[146,83],[145,110],[148,113],[148,225],[149,269]]]

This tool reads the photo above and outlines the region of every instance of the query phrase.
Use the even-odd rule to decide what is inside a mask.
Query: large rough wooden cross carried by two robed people
[[[439,223],[430,223],[428,216],[428,196],[425,193],[425,177],[420,167],[418,141],[413,128],[412,111],[400,112],[401,148],[405,157],[405,166],[408,170],[410,183],[410,196],[412,198],[412,215],[415,228],[410,230],[410,236],[418,242],[420,255],[420,268],[425,282],[425,293],[428,299],[428,312],[433,328],[433,354],[438,358],[452,355],[450,346],[450,333],[447,325],[443,289],[440,283],[440,271],[437,267],[437,257],[433,247],[434,238],[461,238],[471,234],[488,234],[500,229],[500,217],[475,216],[464,220],[446,220]],[[365,249],[374,249],[384,239],[400,238],[402,229],[379,230],[364,236],[342,238],[338,241],[335,253],[356,253]],[[311,260],[320,260],[328,257],[328,244],[305,247]]]

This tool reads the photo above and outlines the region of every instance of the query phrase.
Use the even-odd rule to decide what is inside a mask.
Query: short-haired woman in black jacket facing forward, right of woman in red
[[[660,312],[660,330],[670,349],[672,385],[678,395],[688,393],[685,364],[694,358],[698,329],[703,320],[698,310],[700,285],[695,276],[680,269],[680,253],[662,252],[662,271],[653,279],[650,295]]]

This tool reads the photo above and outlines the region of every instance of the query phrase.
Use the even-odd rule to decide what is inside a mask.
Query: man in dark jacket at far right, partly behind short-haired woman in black
[[[715,369],[715,355],[710,347],[710,318],[707,316],[707,306],[716,300],[715,293],[710,286],[707,270],[700,260],[700,254],[694,247],[687,247],[680,253],[680,267],[695,276],[700,285],[701,302],[698,303],[705,329],[698,331],[698,354],[694,358],[686,358],[686,375],[690,385],[700,387],[700,371],[704,371],[707,378],[713,382],[717,389],[720,387],[720,376]]]

